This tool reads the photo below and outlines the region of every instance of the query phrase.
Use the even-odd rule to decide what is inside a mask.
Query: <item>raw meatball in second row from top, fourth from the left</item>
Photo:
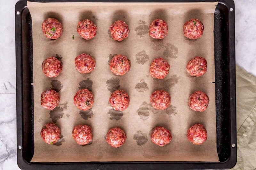
[[[163,79],[170,70],[170,64],[163,58],[156,58],[149,66],[149,73],[153,78]]]

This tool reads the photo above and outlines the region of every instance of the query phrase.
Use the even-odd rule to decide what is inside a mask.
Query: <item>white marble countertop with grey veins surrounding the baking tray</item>
[[[16,77],[14,6],[1,0],[0,41],[0,169],[19,169],[16,148]],[[236,64],[256,76],[256,23],[254,0],[235,0]]]

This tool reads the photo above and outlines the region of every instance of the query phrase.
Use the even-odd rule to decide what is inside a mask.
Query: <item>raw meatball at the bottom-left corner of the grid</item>
[[[53,123],[48,123],[44,125],[40,135],[45,143],[55,144],[60,140],[60,128]]]

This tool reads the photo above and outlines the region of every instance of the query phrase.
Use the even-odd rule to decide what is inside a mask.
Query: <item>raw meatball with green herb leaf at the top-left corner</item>
[[[44,35],[52,40],[56,40],[62,34],[62,24],[55,18],[47,18],[42,23]]]

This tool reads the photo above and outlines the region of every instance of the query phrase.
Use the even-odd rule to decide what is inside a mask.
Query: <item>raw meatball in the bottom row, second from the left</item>
[[[92,128],[88,125],[77,125],[72,131],[77,144],[86,145],[92,142]]]

